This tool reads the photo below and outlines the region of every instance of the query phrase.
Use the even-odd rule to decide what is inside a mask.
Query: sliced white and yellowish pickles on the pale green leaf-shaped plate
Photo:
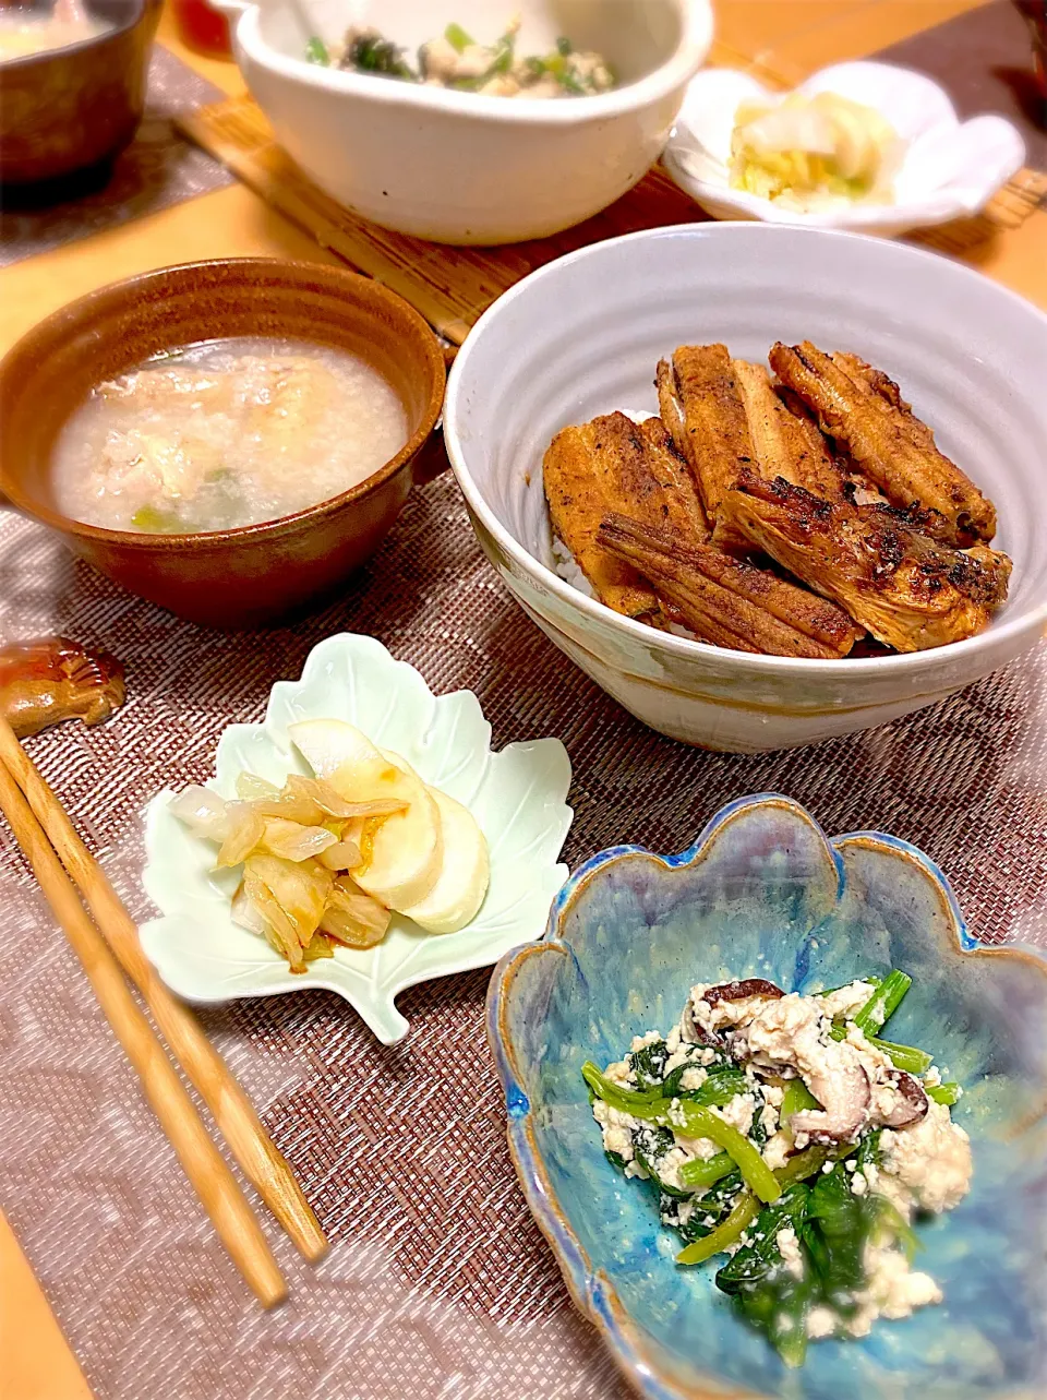
[[[171,804],[217,846],[216,869],[242,868],[234,921],[298,973],[336,945],[375,946],[393,913],[431,934],[465,928],[490,876],[468,808],[340,720],[301,721],[288,735],[312,777],[291,773],[277,787],[242,773],[235,799],[195,785]]]

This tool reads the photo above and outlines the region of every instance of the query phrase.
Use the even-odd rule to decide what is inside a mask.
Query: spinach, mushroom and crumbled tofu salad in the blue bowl
[[[726,1256],[717,1288],[792,1366],[812,1340],[942,1301],[913,1226],[963,1200],[971,1152],[960,1086],[880,1036],[910,986],[700,984],[666,1036],[582,1070],[605,1152],[652,1191],[677,1264]]]

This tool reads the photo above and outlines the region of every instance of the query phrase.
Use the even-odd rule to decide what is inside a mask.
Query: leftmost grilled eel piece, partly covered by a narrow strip
[[[708,539],[708,522],[687,466],[659,419],[637,426],[609,413],[563,428],[542,465],[553,531],[567,545],[600,602],[626,617],[658,612],[654,589],[596,540],[600,521],[628,511],[684,540]]]

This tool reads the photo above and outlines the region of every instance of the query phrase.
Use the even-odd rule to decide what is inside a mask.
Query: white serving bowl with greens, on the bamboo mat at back
[[[322,189],[388,228],[449,244],[542,238],[613,203],[665,146],[712,38],[708,0],[218,0],[237,62],[277,140]],[[519,53],[557,35],[603,53],[623,80],[591,98],[479,97],[305,63],[374,24],[407,48],[455,20],[493,41],[521,14]]]

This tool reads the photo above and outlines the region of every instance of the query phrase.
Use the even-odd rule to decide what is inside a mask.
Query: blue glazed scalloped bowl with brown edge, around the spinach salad
[[[788,1371],[708,1268],[603,1156],[581,1065],[668,1029],[694,981],[761,976],[813,991],[899,966],[892,1037],[966,1086],[970,1196],[924,1229],[945,1303],[817,1343]],[[489,1035],[521,1183],[577,1306],[659,1400],[1033,1400],[1047,1394],[1047,963],[984,948],[942,872],[878,832],[829,840],[788,798],[724,808],[682,855],[602,851],[557,896],[542,942],[501,960]]]

